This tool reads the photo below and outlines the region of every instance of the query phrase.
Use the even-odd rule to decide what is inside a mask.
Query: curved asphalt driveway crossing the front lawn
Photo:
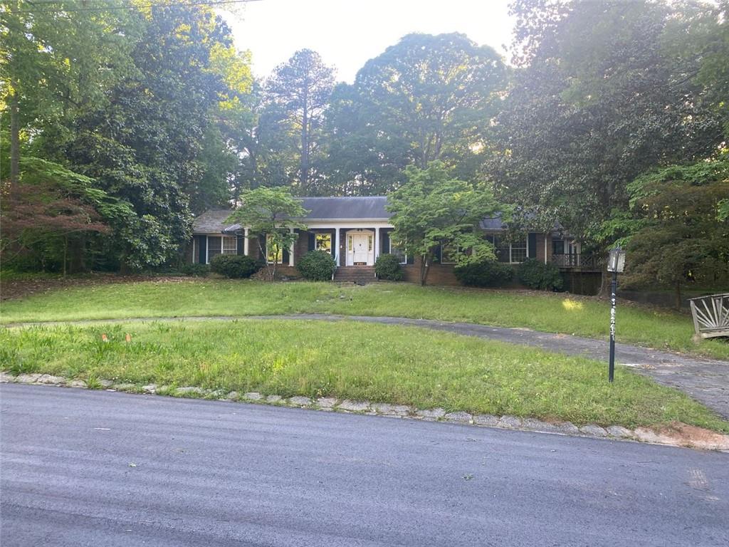
[[[383,325],[408,325],[434,330],[445,330],[467,336],[477,336],[509,344],[521,344],[568,355],[588,357],[607,362],[607,341],[580,338],[565,334],[542,333],[524,328],[492,327],[473,323],[443,322],[434,319],[408,319],[407,317],[367,317],[326,314],[266,315],[266,316],[217,316],[217,317],[139,317],[132,319],[99,319],[90,321],[59,321],[43,323],[18,323],[7,327],[31,325],[93,325],[98,323],[128,323],[136,321],[233,321],[244,319],[288,319],[308,321],[357,321]],[[650,376],[659,384],[675,387],[695,400],[729,419],[729,362],[693,357],[685,354],[661,352],[656,349],[615,345],[618,363],[634,368],[644,376]]]

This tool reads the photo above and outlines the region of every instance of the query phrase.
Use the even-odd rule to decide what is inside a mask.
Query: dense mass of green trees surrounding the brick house
[[[509,66],[408,34],[351,84],[312,50],[254,79],[211,5],[77,4],[0,4],[5,263],[176,267],[196,214],[256,220],[244,201],[269,198],[289,210],[251,243],[278,257],[292,195],[390,193],[422,283],[437,246],[491,257],[475,226],[498,210],[582,249],[630,241],[636,286],[725,279],[727,0],[512,0]],[[272,187],[288,197],[249,193]]]

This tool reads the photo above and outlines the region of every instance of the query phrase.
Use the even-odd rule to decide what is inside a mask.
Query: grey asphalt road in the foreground
[[[4,384],[11,546],[727,546],[729,454]]]

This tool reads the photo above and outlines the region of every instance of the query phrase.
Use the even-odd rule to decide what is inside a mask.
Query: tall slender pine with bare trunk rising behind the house
[[[324,109],[334,86],[334,69],[326,66],[319,53],[299,50],[278,66],[267,82],[271,102],[278,105],[286,119],[300,132],[299,192],[311,188],[312,156],[320,146]]]

